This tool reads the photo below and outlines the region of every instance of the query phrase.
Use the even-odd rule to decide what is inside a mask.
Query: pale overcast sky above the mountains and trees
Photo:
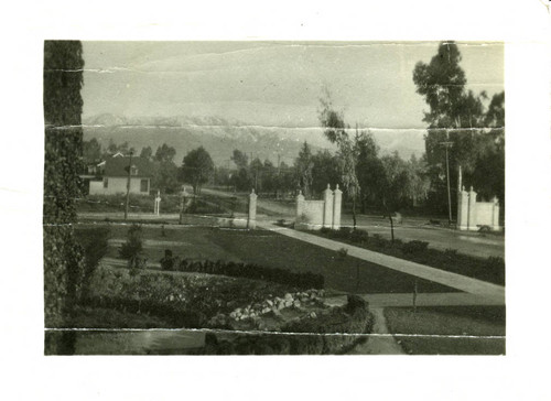
[[[317,127],[322,86],[350,126],[424,128],[412,72],[436,42],[84,42],[84,117],[217,116]],[[468,88],[504,89],[504,46],[460,44]]]

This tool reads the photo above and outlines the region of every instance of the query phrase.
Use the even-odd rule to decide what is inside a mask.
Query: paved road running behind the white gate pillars
[[[205,188],[203,192],[218,196],[234,196],[234,194],[216,189]],[[257,202],[259,208],[258,219],[270,221],[284,218],[289,221],[294,220],[295,209],[292,204],[262,198],[258,198]],[[262,209],[270,212],[272,216],[262,216],[260,214]],[[458,252],[476,257],[505,257],[504,237],[455,231],[442,227],[429,226],[426,223],[428,219],[420,217],[403,217],[403,224],[395,227],[395,238],[404,241],[428,241],[435,249],[455,249]],[[342,224],[343,226],[352,227],[352,216],[343,215]],[[381,216],[358,215],[357,227],[367,230],[370,235],[379,234],[386,238],[390,238],[391,236],[389,221]]]

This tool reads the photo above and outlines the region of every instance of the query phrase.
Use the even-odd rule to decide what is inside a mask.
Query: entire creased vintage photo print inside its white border
[[[503,42],[46,40],[45,355],[506,355]]]

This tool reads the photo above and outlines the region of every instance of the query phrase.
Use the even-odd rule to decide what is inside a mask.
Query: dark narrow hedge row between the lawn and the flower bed
[[[294,273],[289,270],[264,268],[258,264],[218,261],[190,261],[172,257],[171,252],[161,259],[163,270],[223,274],[235,278],[271,281],[301,290],[323,289],[324,277],[312,272]]]

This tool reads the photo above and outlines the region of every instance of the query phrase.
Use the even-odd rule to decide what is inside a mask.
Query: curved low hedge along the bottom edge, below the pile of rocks
[[[345,354],[359,342],[365,342],[372,329],[368,304],[356,295],[348,295],[348,304],[334,308],[317,318],[303,318],[282,328],[281,334],[241,335],[234,340],[219,340],[207,334],[205,354],[208,355],[332,355]],[[304,333],[304,334],[289,334]],[[339,335],[341,334],[341,335]],[[350,336],[349,334],[358,334]]]

